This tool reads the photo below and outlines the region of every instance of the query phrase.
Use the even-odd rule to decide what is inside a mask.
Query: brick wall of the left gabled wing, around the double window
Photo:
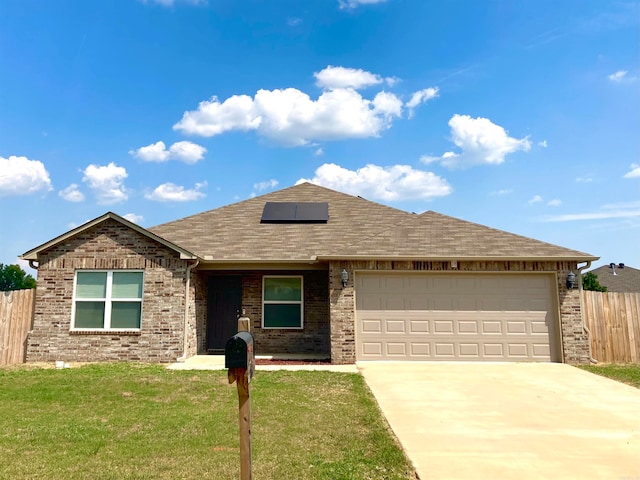
[[[183,351],[186,267],[176,252],[110,219],[41,253],[27,361],[175,361]],[[70,332],[80,269],[144,270],[140,332]]]

